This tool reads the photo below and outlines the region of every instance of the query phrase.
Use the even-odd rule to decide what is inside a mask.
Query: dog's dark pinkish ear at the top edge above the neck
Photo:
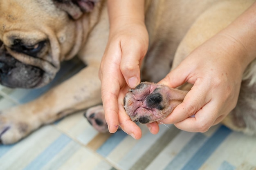
[[[66,11],[73,19],[79,18],[84,12],[93,10],[98,0],[53,0],[56,7]]]

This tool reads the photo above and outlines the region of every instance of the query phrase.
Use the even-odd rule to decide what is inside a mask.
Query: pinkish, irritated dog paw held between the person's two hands
[[[142,82],[124,98],[124,109],[132,121],[142,124],[166,118],[180,104],[187,91],[161,84]]]

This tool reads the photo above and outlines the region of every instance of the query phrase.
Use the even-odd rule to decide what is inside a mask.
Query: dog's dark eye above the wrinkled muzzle
[[[36,53],[38,53],[41,49],[43,49],[43,47],[45,46],[45,42],[46,41],[40,41],[34,45],[27,45],[27,44],[23,44],[21,40],[14,40],[13,46],[11,49],[20,53],[25,53],[27,55],[36,57]]]

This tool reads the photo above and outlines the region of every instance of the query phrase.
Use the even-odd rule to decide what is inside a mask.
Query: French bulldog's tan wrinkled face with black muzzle
[[[51,81],[75,41],[75,24],[52,0],[0,2],[0,83],[36,88]]]

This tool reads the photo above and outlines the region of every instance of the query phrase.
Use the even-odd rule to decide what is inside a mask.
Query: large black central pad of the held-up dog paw
[[[157,108],[162,110],[161,102],[163,101],[163,96],[160,93],[151,93],[146,97],[146,105],[149,108]]]

